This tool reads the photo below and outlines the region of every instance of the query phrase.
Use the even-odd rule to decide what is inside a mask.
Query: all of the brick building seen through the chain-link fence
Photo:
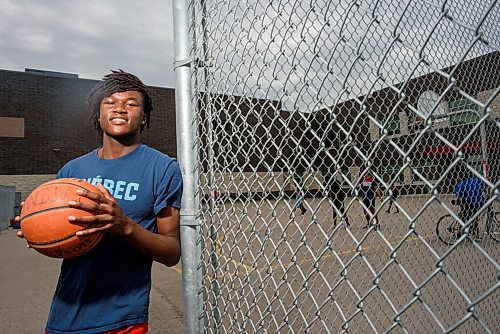
[[[499,68],[500,53],[493,52],[313,112],[286,111],[279,101],[212,96],[200,109],[211,110],[214,138],[202,146],[213,151],[215,173],[236,180],[247,173],[258,181],[248,180],[246,192],[271,197],[294,190],[290,174],[310,196],[322,196],[317,190],[339,172],[356,186],[367,157],[372,170],[402,194],[428,194],[431,186],[450,193],[453,172],[437,181],[459,154],[480,173],[486,166],[496,181]],[[480,104],[490,99],[485,120]],[[202,130],[207,132],[208,126]],[[225,187],[222,175],[216,183],[241,196],[234,183]]]

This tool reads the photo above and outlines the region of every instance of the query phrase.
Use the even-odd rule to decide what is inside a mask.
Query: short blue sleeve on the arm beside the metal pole
[[[182,175],[179,164],[174,160],[168,165],[156,186],[156,198],[154,203],[155,214],[158,214],[167,206],[173,206],[180,209],[181,198]]]

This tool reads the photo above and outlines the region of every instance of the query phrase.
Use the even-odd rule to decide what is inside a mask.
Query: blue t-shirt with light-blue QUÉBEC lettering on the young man
[[[152,232],[160,210],[181,206],[177,161],[142,144],[111,160],[94,150],[68,162],[57,177],[102,183],[127,216]],[[151,265],[150,258],[109,233],[88,253],[63,260],[47,333],[97,333],[146,322]]]

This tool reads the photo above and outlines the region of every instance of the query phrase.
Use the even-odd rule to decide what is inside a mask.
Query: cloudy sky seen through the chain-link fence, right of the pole
[[[203,8],[194,12],[201,29]],[[494,0],[207,1],[206,12],[213,73],[206,86],[279,100],[284,109],[302,112],[500,45],[500,4]],[[201,48],[198,57],[204,57]]]

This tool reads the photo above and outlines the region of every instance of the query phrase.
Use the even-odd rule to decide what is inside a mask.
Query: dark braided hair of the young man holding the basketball
[[[102,99],[111,96],[114,93],[121,93],[126,91],[137,91],[142,93],[143,97],[143,111],[146,115],[146,124],[141,124],[141,132],[144,126],[149,128],[151,121],[151,112],[153,111],[153,103],[148,94],[147,87],[142,81],[131,73],[124,72],[119,69],[118,71],[111,71],[102,78],[95,87],[90,91],[87,96],[87,110],[90,112],[90,120],[94,123],[94,127],[100,134],[102,134],[101,124],[99,123],[100,108]]]

